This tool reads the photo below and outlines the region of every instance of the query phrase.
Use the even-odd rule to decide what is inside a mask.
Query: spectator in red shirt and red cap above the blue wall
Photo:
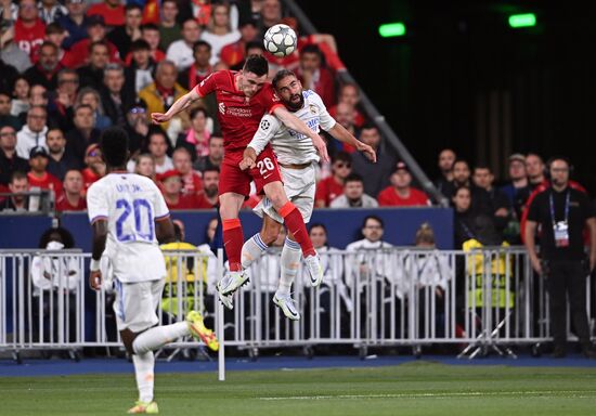
[[[412,174],[403,161],[398,162],[391,173],[391,185],[383,190],[378,196],[380,207],[416,207],[429,206],[428,196],[419,190],[410,186]]]

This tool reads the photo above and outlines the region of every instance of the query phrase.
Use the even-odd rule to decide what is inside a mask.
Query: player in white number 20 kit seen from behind
[[[95,290],[101,288],[100,259],[105,250],[116,288],[116,323],[132,355],[139,388],[139,401],[128,413],[156,414],[159,410],[153,400],[153,351],[189,335],[212,350],[219,343],[196,311],[190,312],[184,322],[156,326],[156,309],[166,278],[166,263],[157,242],[173,240],[169,211],[151,179],[127,172],[128,135],[122,129],[105,130],[101,150],[108,173],[87,193],[93,229],[89,283]]]

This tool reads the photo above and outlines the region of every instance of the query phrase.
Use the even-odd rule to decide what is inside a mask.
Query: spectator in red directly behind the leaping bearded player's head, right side
[[[332,73],[321,66],[321,50],[316,44],[307,44],[300,51],[300,66],[297,75],[305,90],[313,90],[323,100],[326,107],[335,104],[335,79]]]

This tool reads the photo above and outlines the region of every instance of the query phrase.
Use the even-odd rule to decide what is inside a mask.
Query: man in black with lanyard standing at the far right
[[[567,158],[552,158],[546,169],[550,187],[536,195],[528,208],[526,247],[532,268],[547,280],[555,344],[553,356],[567,354],[566,297],[569,294],[571,317],[582,353],[596,359],[586,313],[586,277],[596,265],[596,213],[587,194],[569,186],[573,167]],[[583,242],[585,226],[591,239],[587,259]],[[535,249],[536,230],[541,233],[540,259]]]

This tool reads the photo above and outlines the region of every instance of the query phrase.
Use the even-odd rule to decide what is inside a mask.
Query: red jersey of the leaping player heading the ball
[[[196,86],[195,92],[200,96],[216,93],[218,120],[225,148],[224,158],[237,165],[242,160],[242,153],[257,132],[261,117],[283,104],[270,83],[265,83],[259,92],[248,99],[244,92],[236,89],[236,75],[237,73],[232,70],[218,70]]]

